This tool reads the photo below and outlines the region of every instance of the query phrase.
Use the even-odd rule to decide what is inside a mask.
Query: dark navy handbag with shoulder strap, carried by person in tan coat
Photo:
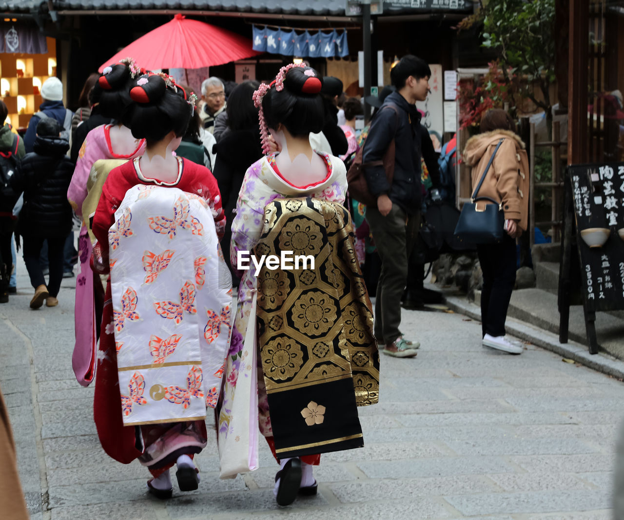
[[[502,142],[503,139],[500,139],[499,144],[496,145],[494,154],[487,162],[485,172],[481,175],[481,180],[470,197],[470,202],[466,202],[462,207],[454,235],[463,242],[499,243],[505,235],[505,213],[502,210],[502,202],[496,202],[490,197],[477,196]],[[485,204],[485,207],[479,208],[477,206],[479,200],[487,200],[493,204]]]

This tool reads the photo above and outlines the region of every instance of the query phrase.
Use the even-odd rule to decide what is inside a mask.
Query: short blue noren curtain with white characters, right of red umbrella
[[[313,58],[349,56],[346,31],[316,30],[297,34],[293,29],[256,25],[251,31],[254,51]]]

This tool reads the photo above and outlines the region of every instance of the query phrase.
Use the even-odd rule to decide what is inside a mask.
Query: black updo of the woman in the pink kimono
[[[90,101],[98,103],[100,114],[119,122],[124,121],[125,112],[132,104],[130,99],[130,67],[115,63],[104,69],[90,94]]]

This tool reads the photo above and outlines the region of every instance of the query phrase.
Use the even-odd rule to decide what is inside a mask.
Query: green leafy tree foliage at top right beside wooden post
[[[503,71],[527,77],[520,96],[550,117],[550,85],[555,82],[555,0],[482,0],[477,16],[459,24],[482,22],[482,45],[496,52]],[[535,86],[542,99],[535,96]]]

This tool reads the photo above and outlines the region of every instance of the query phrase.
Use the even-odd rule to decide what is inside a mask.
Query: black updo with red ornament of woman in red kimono
[[[185,134],[193,109],[184,89],[167,86],[158,74],[144,74],[132,82],[130,98],[134,103],[127,113],[128,126],[137,139],[151,144],[172,130],[176,137]]]

